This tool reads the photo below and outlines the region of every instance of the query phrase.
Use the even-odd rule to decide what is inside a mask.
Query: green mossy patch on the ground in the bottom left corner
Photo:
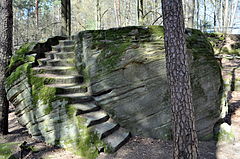
[[[15,159],[13,153],[18,146],[16,142],[0,143],[0,159]]]

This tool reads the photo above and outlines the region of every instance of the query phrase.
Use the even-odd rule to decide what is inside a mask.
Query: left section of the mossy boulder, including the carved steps
[[[38,44],[26,44],[12,57],[9,68],[15,71],[5,83],[18,121],[29,134],[85,158],[96,158],[99,151],[114,152],[124,145],[130,133],[88,92],[82,72],[75,67],[74,41],[60,40],[42,56],[30,54],[33,45]]]

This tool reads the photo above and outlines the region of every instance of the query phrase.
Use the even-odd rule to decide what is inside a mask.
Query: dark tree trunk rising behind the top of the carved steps
[[[63,36],[71,35],[71,0],[61,0],[61,15]]]

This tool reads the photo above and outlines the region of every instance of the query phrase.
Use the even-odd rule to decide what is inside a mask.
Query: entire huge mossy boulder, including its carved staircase
[[[220,68],[200,31],[187,30],[186,37],[197,131],[201,139],[210,139],[223,104]],[[59,38],[25,45],[9,65],[8,99],[34,138],[87,158],[117,150],[129,131],[171,138],[162,27]]]

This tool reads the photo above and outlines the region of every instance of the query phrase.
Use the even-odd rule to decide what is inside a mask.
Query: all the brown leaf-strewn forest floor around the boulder
[[[240,67],[239,60],[223,60],[223,76],[225,72],[232,71]],[[227,75],[227,74],[226,74]],[[234,78],[240,76],[240,72],[235,72]],[[232,77],[230,77],[232,78]],[[201,159],[240,159],[240,91],[229,92],[229,114],[228,123],[235,132],[235,138],[231,142],[199,142],[199,152]],[[27,142],[27,145],[33,146],[34,151],[24,154],[25,159],[81,159],[80,157],[64,149],[46,145],[40,141],[34,140],[27,133],[27,130],[21,127],[14,115],[14,110],[9,115],[9,134],[0,136],[1,143]],[[21,149],[15,147],[15,156],[20,157]],[[172,142],[157,139],[133,137],[130,141],[120,148],[114,154],[101,153],[98,159],[171,159]],[[0,159],[1,154],[0,154]]]

